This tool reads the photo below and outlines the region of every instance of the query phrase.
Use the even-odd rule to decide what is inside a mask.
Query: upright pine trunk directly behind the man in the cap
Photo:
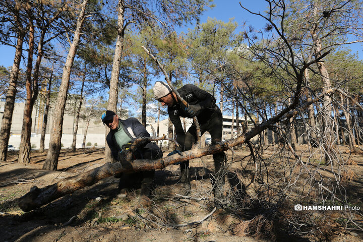
[[[110,79],[110,90],[108,96],[108,104],[107,110],[114,111],[117,113],[117,95],[118,95],[118,77],[119,77],[119,69],[120,63],[122,58],[122,53],[124,49],[124,33],[125,33],[125,26],[124,26],[124,1],[118,1],[118,10],[117,10],[117,40],[116,40],[116,47],[115,53],[113,56],[113,63],[112,63],[112,72],[111,72],[111,79]],[[110,129],[105,126],[105,137],[108,135]],[[109,149],[106,138],[105,138],[105,158],[106,162],[116,162],[111,155],[111,150]]]

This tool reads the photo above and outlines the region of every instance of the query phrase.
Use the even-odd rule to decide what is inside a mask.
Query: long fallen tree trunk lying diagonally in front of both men
[[[330,89],[327,92],[322,93],[319,97],[327,95],[328,93],[332,92],[333,89]],[[306,99],[304,105],[299,106],[299,110],[305,110],[310,104],[319,100],[319,97],[316,99],[311,99],[311,98]],[[297,103],[290,105],[289,107],[282,110],[278,115],[256,126],[250,132],[243,134],[232,140],[226,140],[224,142],[212,146],[207,146],[205,148],[196,148],[193,150],[185,151],[181,154],[174,154],[157,160],[152,160],[152,161],[134,160],[131,163],[131,166],[128,167],[123,167],[120,162],[106,163],[98,168],[89,170],[87,172],[72,177],[65,178],[59,181],[58,183],[47,186],[45,188],[39,189],[36,186],[34,186],[29,193],[25,194],[23,197],[19,199],[19,207],[23,211],[28,212],[33,209],[39,208],[42,205],[48,204],[57,198],[63,197],[66,194],[70,194],[81,188],[91,186],[97,183],[98,180],[106,178],[111,175],[115,175],[122,172],[137,172],[137,171],[163,169],[164,167],[175,164],[177,162],[184,162],[187,160],[200,158],[206,155],[215,154],[221,151],[226,151],[231,147],[244,144],[246,141],[252,139],[256,135],[260,134],[262,131],[271,127],[271,125],[275,124],[278,120],[287,119],[293,115],[296,115],[299,112],[299,110],[293,109],[296,107],[296,105]],[[137,146],[136,143],[138,142],[140,142],[140,140],[135,142],[133,146]],[[133,148],[134,147],[132,147],[131,150]]]

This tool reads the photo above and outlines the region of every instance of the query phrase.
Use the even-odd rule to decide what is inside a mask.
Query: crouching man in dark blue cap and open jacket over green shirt
[[[150,137],[145,127],[138,119],[130,117],[128,119],[119,119],[113,111],[107,110],[101,114],[103,124],[105,124],[110,132],[106,137],[108,147],[111,150],[113,158],[125,164],[126,151],[136,138]],[[134,152],[135,159],[158,159],[162,157],[161,149],[155,144],[148,142],[139,146]],[[128,189],[137,188],[141,181],[140,196],[149,196],[152,189],[152,183],[155,171],[142,171],[133,174],[122,173],[118,184],[120,193],[125,193]]]

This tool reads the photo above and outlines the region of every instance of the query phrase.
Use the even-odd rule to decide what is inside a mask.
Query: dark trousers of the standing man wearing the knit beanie
[[[222,133],[223,133],[223,117],[219,109],[212,114],[212,116],[207,120],[207,122],[201,123],[199,125],[201,129],[201,134],[204,134],[206,131],[210,133],[212,138],[212,145],[221,142]],[[197,129],[196,126],[193,124],[186,133],[184,150],[190,150],[193,144],[196,142],[196,140],[197,140]],[[224,184],[224,179],[223,179],[224,176],[223,173],[225,170],[224,156],[225,156],[224,152],[213,154],[215,177],[217,178],[213,179],[214,180],[213,185],[218,186],[219,181],[220,183]],[[181,170],[181,182],[184,183],[185,181],[187,181],[186,179],[189,180],[189,177],[187,177],[189,176],[189,161],[181,163],[180,170]],[[216,184],[216,180],[218,180],[218,184]]]

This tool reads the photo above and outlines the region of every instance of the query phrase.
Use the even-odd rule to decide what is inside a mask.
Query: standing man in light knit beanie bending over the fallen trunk
[[[175,127],[176,141],[181,146],[169,153],[168,156],[180,153],[181,151],[190,150],[197,140],[196,126],[193,124],[187,133],[185,133],[183,126],[181,126],[180,117],[196,116],[200,125],[201,133],[203,134],[206,131],[210,133],[212,145],[221,142],[223,131],[222,112],[216,105],[216,100],[211,94],[192,84],[187,84],[177,89],[180,96],[188,102],[189,106],[186,107],[177,99],[176,94],[165,82],[156,82],[153,90],[156,99],[161,102],[161,105],[167,105],[170,120]],[[212,184],[216,205],[222,205],[221,203],[223,203],[223,186],[225,176],[224,158],[224,152],[213,154],[215,179],[213,179]],[[182,193],[188,195],[191,189],[189,161],[180,164],[180,171],[180,180],[183,183],[184,188]]]

